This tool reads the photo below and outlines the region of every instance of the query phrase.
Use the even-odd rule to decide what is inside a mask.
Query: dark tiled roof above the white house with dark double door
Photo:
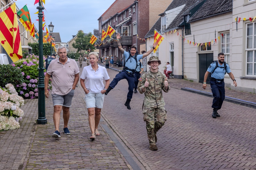
[[[196,11],[196,13],[189,19],[189,21],[210,17],[212,15],[221,14],[223,12],[229,12],[232,11],[232,8],[232,0],[208,0],[199,8],[199,10]]]

